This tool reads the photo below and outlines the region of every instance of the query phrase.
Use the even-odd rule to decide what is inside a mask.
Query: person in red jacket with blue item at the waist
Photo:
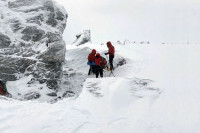
[[[90,66],[88,75],[90,75],[91,72],[95,73],[95,71],[94,71],[95,54],[96,54],[96,50],[93,49],[92,52],[88,55],[88,63],[87,64]]]

